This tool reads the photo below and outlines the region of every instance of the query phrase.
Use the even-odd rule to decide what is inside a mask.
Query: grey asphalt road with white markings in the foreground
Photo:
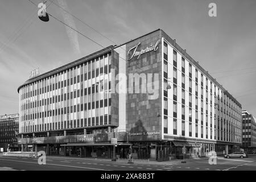
[[[154,164],[124,162],[112,162],[109,160],[96,159],[73,159],[68,157],[54,158],[47,157],[46,164],[38,164],[36,158],[18,158],[0,156],[0,171],[256,171],[256,156],[249,156],[246,159],[218,158],[217,164],[210,165],[208,160],[193,160],[187,163]]]

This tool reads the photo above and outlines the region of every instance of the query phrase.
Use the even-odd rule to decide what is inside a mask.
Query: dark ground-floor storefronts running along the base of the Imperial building
[[[112,142],[115,139],[115,143]],[[153,140],[154,139],[154,140]],[[67,136],[33,137],[19,139],[20,151],[45,151],[46,155],[79,156],[92,158],[191,159],[209,155],[224,155],[240,151],[231,143],[207,140],[133,138],[126,132]],[[185,154],[184,154],[185,148]]]

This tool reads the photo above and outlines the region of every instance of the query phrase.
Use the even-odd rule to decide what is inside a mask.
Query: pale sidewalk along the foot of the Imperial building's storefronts
[[[117,161],[113,162],[111,159],[104,159],[104,158],[79,158],[79,157],[72,157],[72,156],[47,156],[47,159],[62,159],[62,160],[79,160],[79,161],[92,161],[92,162],[112,162],[112,163],[126,163],[128,162],[128,159],[117,159]],[[208,160],[209,157],[202,157],[202,158],[194,158],[194,159],[185,159],[185,162],[196,162],[201,160]],[[219,159],[219,157],[218,157]],[[151,165],[174,165],[174,164],[180,164],[182,159],[171,159],[168,161],[158,162],[155,159],[134,159],[134,164],[151,164]]]

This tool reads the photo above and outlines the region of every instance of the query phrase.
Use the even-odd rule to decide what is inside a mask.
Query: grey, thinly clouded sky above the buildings
[[[18,113],[17,89],[33,69],[45,73],[98,51],[98,44],[119,45],[161,28],[256,116],[255,0],[53,1],[97,32],[46,2],[47,13],[98,44],[51,16],[42,22],[30,1],[0,0],[0,115]],[[208,15],[209,3],[217,17]]]

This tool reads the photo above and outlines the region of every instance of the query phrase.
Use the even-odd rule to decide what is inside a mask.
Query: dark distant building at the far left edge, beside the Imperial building
[[[0,116],[0,148],[4,152],[18,151],[17,135],[19,132],[19,114],[9,114]]]

